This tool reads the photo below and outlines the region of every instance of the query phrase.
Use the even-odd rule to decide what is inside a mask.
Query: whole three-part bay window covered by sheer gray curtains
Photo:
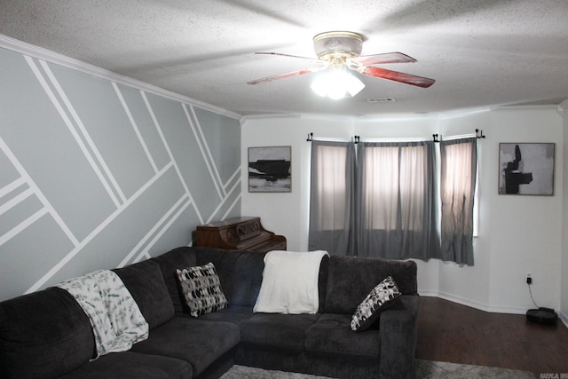
[[[309,248],[473,265],[476,172],[477,138],[438,157],[433,141],[313,141]]]

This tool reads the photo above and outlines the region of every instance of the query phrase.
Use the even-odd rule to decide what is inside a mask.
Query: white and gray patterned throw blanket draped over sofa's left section
[[[116,273],[99,270],[58,284],[89,316],[97,343],[97,358],[130,350],[148,337],[148,323]]]

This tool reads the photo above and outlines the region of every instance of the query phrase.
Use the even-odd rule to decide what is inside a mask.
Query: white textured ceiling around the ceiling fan
[[[312,93],[312,37],[362,34],[362,55],[401,51],[384,68],[428,89],[361,76],[353,99]],[[568,0],[0,0],[0,34],[238,114],[438,113],[568,99]],[[1,63],[0,63],[1,64]],[[309,67],[309,66],[308,66]],[[368,103],[393,98],[395,102]]]

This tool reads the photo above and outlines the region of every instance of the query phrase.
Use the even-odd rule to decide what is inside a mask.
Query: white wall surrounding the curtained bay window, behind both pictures
[[[267,229],[288,238],[288,249],[306,249],[309,214],[310,144],[314,138],[359,135],[372,138],[431,138],[484,131],[479,141],[479,236],[475,265],[418,260],[422,295],[441,296],[492,312],[533,308],[525,284],[533,272],[540,306],[560,307],[562,254],[563,121],[556,108],[505,108],[469,113],[368,119],[256,117],[242,122],[242,162],[250,146],[292,146],[292,193],[248,193],[241,182],[243,216],[262,217]],[[443,137],[442,137],[443,138]],[[554,196],[497,194],[500,142],[556,142]],[[568,243],[568,242],[567,242]],[[565,284],[565,283],[564,283]],[[565,302],[564,302],[565,303]]]

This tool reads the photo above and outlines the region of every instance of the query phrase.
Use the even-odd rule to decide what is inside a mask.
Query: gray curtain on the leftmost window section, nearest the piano
[[[351,142],[312,141],[308,249],[353,255],[355,149]]]

